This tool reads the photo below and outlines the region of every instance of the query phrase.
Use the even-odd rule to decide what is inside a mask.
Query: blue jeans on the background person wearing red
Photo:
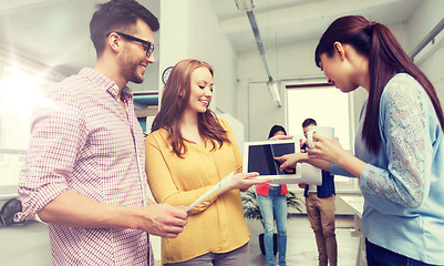
[[[280,186],[270,186],[268,197],[257,195],[260,213],[265,224],[265,254],[267,265],[273,266],[273,239],[275,219],[278,227],[278,263],[286,265],[287,253],[287,195],[280,195]]]

